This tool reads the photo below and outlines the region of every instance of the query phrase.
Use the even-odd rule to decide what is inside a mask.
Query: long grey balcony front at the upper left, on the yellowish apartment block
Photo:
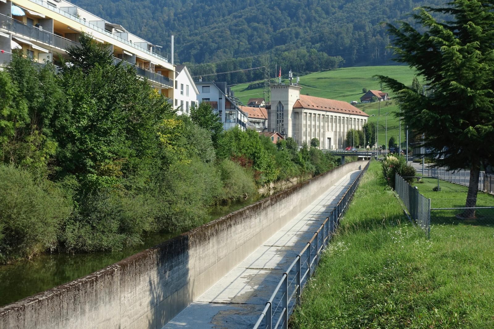
[[[37,27],[26,25],[22,22],[19,22],[11,17],[2,14],[0,14],[0,28],[6,29],[13,33],[21,34],[26,37],[31,37],[40,42],[64,50],[69,48],[70,46],[73,47],[80,46],[80,44],[77,42],[71,41],[64,37],[54,35],[47,31],[40,30]]]

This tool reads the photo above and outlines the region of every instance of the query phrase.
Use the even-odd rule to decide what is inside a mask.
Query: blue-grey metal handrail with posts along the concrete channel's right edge
[[[288,317],[289,313],[288,312],[288,305],[290,304],[290,301],[293,298],[293,295],[296,294],[296,305],[300,305],[300,296],[302,293],[302,290],[305,286],[305,283],[307,280],[314,274],[314,270],[316,266],[319,264],[320,261],[320,256],[323,250],[328,246],[330,236],[334,234],[334,231],[337,229],[337,226],[339,225],[339,219],[341,218],[341,215],[344,214],[346,209],[348,208],[348,204],[350,203],[355,190],[357,189],[357,186],[360,183],[360,180],[364,173],[367,171],[369,168],[369,162],[367,165],[364,167],[364,169],[359,173],[355,181],[350,185],[348,190],[341,196],[339,199],[338,203],[336,206],[333,208],[333,210],[330,212],[329,216],[326,217],[324,222],[321,224],[321,226],[317,229],[316,232],[314,232],[314,235],[312,238],[307,242],[305,247],[300,251],[300,253],[295,256],[295,259],[291,262],[290,266],[288,266],[288,269],[283,273],[282,278],[278,282],[278,285],[276,286],[274,292],[271,294],[271,297],[269,300],[266,302],[266,305],[264,306],[264,309],[262,313],[259,315],[259,318],[257,319],[257,322],[255,323],[253,329],[258,329],[259,326],[262,323],[262,320],[266,320],[264,329],[277,329],[280,323],[283,323],[284,329],[288,328]],[[321,246],[319,246],[319,242],[321,239],[319,238],[322,233],[322,242]],[[316,251],[315,255],[312,255],[312,249],[313,249],[313,243],[315,242],[314,249]],[[307,252],[307,257],[302,263],[302,257],[305,255]],[[302,276],[302,265],[307,264],[307,270],[305,270],[305,273]],[[296,265],[296,273],[294,273],[294,279],[290,281],[290,284],[293,283],[293,280],[297,281],[297,284],[294,286],[294,289],[292,292],[290,292],[290,298],[288,299],[288,277],[290,271],[294,268]],[[314,270],[312,270],[312,266],[314,265]],[[306,279],[307,278],[307,279]],[[273,317],[276,315],[276,310],[275,309],[275,314],[273,314],[273,301],[275,297],[278,295],[278,292],[280,292],[280,288],[283,289],[283,294],[282,294],[282,300],[280,302],[283,302],[283,308],[280,311],[280,315],[278,316],[278,321],[276,322],[275,327],[272,326],[273,322]],[[295,305],[295,304],[294,304]],[[292,306],[293,308],[293,306]]]

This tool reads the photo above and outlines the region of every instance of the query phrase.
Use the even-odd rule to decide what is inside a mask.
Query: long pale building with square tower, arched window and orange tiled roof
[[[368,114],[347,102],[300,95],[296,83],[271,85],[268,129],[293,138],[299,146],[319,139],[321,148],[345,147],[346,132],[362,130]]]

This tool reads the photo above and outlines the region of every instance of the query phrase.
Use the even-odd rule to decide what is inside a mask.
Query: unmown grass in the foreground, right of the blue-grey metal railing
[[[492,226],[433,224],[426,240],[373,162],[291,328],[493,328],[492,255]]]

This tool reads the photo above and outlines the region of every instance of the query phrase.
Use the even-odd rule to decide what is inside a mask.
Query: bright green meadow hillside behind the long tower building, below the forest
[[[362,88],[367,89],[380,89],[379,81],[374,76],[375,74],[386,74],[390,77],[398,79],[407,85],[412,84],[414,71],[407,66],[368,66],[368,67],[355,67],[355,68],[343,68],[336,70],[329,70],[323,72],[310,73],[300,77],[300,84],[303,89],[302,94],[309,94],[311,96],[323,97],[329,99],[335,99],[338,101],[360,102],[360,97],[364,95]],[[282,79],[283,82],[288,82],[287,79]],[[235,91],[235,96],[238,97],[244,104],[247,104],[249,98],[263,97],[262,88],[247,90],[248,84],[239,84],[232,87]],[[386,91],[386,90],[384,90]],[[390,96],[392,96],[390,94]],[[381,110],[379,111],[379,105]],[[369,118],[369,122],[377,122],[379,116],[379,144],[386,144],[386,112],[388,113],[388,140],[391,136],[394,136],[398,143],[399,134],[399,121],[395,117],[394,113],[398,111],[398,107],[393,101],[371,103],[371,104],[359,104],[358,108],[364,110],[369,115],[374,114]],[[402,127],[402,144],[405,145],[405,128]]]

